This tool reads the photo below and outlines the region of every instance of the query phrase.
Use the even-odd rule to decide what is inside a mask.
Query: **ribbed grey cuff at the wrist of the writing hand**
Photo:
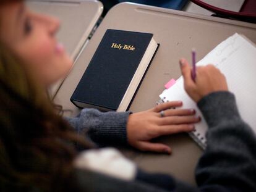
[[[209,128],[215,127],[222,121],[240,117],[234,94],[228,91],[210,93],[198,101],[197,106]]]

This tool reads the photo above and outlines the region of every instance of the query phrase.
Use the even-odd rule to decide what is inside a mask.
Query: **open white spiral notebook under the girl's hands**
[[[247,122],[256,133],[256,46],[245,36],[234,34],[218,44],[207,54],[197,66],[213,64],[221,70],[228,82],[229,91],[235,94],[237,107],[242,119]],[[203,149],[207,146],[207,123],[192,99],[184,90],[184,80],[180,77],[168,90],[160,94],[161,102],[181,100],[182,108],[192,108],[202,121],[195,125],[195,131],[189,135]]]

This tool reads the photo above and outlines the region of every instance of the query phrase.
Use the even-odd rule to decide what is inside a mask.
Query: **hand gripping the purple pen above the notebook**
[[[228,91],[226,78],[213,65],[197,67],[195,81],[191,77],[191,68],[186,59],[180,60],[181,72],[184,77],[184,88],[195,102],[215,91]]]

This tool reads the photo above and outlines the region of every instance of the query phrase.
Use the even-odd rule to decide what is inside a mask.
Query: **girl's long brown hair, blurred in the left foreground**
[[[0,42],[0,190],[64,191],[76,145],[92,147]]]

